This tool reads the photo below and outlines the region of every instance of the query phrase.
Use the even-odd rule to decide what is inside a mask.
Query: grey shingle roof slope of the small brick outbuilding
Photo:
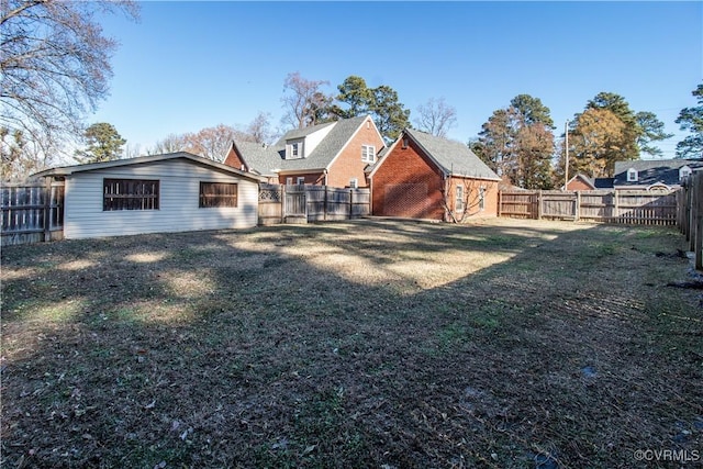
[[[406,129],[405,132],[442,166],[446,174],[500,180],[500,177],[461,142],[412,129]]]

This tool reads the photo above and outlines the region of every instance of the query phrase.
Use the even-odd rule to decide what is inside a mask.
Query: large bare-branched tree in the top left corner
[[[108,94],[111,54],[97,13],[138,18],[131,0],[3,0],[0,7],[0,125],[42,153],[79,137],[88,111]]]

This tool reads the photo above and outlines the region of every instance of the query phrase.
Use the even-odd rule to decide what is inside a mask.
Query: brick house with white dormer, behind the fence
[[[271,146],[235,141],[224,164],[269,182],[367,187],[365,168],[384,146],[373,120],[365,115],[297,129]]]

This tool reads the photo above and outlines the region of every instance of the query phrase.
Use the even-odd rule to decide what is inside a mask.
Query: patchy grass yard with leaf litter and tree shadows
[[[673,467],[635,451],[703,457],[681,247],[503,219],[7,247],[0,462]]]

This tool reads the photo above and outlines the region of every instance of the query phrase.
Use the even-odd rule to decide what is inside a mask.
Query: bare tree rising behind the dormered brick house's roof
[[[333,98],[320,91],[320,87],[330,81],[308,80],[299,71],[288,74],[283,81],[283,109],[281,119],[284,126],[303,129],[320,123],[323,110],[328,108]]]

